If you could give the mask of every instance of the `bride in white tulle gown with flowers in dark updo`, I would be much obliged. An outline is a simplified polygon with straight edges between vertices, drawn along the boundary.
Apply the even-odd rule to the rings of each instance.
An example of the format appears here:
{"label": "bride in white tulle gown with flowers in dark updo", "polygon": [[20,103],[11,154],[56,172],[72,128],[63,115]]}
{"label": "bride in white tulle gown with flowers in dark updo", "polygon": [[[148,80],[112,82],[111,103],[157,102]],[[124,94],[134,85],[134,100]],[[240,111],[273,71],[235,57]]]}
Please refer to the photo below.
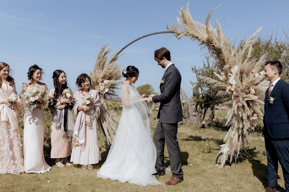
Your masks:
{"label": "bride in white tulle gown with flowers in dark updo", "polygon": [[121,86],[123,112],[108,157],[97,176],[140,186],[160,185],[152,175],[156,173],[156,148],[151,139],[147,98],[131,86],[138,80],[138,73],[134,66],[123,70],[126,77]]}

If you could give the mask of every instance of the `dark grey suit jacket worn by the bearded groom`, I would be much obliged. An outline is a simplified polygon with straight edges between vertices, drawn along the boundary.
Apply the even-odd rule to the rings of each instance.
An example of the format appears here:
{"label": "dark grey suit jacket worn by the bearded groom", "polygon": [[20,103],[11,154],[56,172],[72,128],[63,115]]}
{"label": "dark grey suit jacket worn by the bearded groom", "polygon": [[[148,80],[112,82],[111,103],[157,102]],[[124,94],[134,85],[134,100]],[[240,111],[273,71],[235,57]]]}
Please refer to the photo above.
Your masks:
{"label": "dark grey suit jacket worn by the bearded groom", "polygon": [[181,108],[181,74],[174,64],[166,69],[160,84],[161,94],[152,97],[154,103],[160,102],[158,119],[161,123],[177,123],[183,120]]}

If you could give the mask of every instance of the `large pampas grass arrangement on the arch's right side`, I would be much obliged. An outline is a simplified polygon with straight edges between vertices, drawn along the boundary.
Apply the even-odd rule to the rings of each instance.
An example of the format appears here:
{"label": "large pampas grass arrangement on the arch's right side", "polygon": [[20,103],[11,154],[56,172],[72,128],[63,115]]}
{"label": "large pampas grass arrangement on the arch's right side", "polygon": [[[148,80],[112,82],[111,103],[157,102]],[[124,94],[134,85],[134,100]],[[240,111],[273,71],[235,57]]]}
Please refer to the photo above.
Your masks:
{"label": "large pampas grass arrangement on the arch's right side", "polygon": [[220,163],[216,164],[216,167],[220,168],[225,165],[228,157],[230,162],[233,157],[238,157],[248,142],[249,132],[254,129],[255,121],[262,121],[264,95],[269,82],[263,73],[259,72],[265,59],[264,55],[259,61],[251,58],[254,37],[262,28],[248,38],[242,49],[238,49],[231,45],[231,40],[227,39],[218,21],[215,22],[215,26],[210,22],[213,10],[218,7],[208,13],[203,25],[193,20],[188,3],[186,10],[183,7],[179,9],[180,16],[177,21],[182,29],[177,25],[167,25],[167,29],[172,31],[177,39],[188,37],[192,41],[199,41],[201,48],[205,48],[214,57],[219,69],[218,73],[214,73],[219,80],[206,77],[202,79],[220,88],[218,95],[232,95],[231,100],[226,103],[229,106],[226,125],[230,125],[230,129],[217,157],[217,160],[221,158]]}

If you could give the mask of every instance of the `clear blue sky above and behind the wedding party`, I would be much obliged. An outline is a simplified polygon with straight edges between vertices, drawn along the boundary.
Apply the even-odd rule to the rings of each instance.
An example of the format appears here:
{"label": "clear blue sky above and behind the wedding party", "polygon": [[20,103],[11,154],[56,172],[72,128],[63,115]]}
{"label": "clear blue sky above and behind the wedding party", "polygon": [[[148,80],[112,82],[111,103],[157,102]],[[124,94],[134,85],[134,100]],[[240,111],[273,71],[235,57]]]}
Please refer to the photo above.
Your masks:
{"label": "clear blue sky above and behind the wedding party", "polygon": [[[166,24],[177,22],[178,10],[188,1],[10,1],[0,0],[0,62],[8,63],[18,93],[27,81],[31,65],[45,70],[42,82],[53,87],[52,73],[62,69],[68,85],[75,91],[75,80],[94,66],[99,49],[108,43],[112,52],[149,33],[167,31]],[[190,1],[194,20],[204,23],[208,12],[219,20],[230,39],[239,42],[259,27],[263,37],[271,33],[289,33],[289,1]],[[134,65],[140,70],[135,86],[152,84],[159,93],[163,69],[154,61],[153,51],[166,47],[182,75],[181,87],[192,95],[190,80],[195,81],[192,66],[202,65],[206,54],[197,42],[177,40],[172,33],[143,38],[127,47],[118,63],[124,69]],[[123,79],[124,80],[124,79]]]}

